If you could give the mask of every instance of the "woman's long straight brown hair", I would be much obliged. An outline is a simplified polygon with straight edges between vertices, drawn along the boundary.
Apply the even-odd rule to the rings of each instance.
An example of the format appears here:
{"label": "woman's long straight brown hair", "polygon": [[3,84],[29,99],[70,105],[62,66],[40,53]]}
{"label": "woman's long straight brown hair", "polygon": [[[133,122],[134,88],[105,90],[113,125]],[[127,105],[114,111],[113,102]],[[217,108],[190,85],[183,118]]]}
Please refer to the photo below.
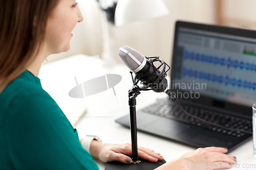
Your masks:
{"label": "woman's long straight brown hair", "polygon": [[0,0],[0,94],[34,60],[59,0]]}

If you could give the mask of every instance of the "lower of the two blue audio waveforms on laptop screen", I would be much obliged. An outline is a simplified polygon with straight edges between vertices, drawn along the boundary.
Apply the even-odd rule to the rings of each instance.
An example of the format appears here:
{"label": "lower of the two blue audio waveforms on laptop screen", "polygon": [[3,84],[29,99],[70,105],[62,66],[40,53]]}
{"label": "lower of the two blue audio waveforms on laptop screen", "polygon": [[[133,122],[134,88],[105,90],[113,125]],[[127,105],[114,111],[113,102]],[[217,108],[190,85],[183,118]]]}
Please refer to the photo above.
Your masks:
{"label": "lower of the two blue audio waveforms on laptop screen", "polygon": [[250,82],[242,79],[231,78],[229,76],[222,76],[216,74],[209,74],[203,71],[197,71],[193,69],[187,69],[183,67],[182,69],[182,77],[190,77],[202,80],[208,80],[212,82],[218,82],[220,84],[232,85],[233,87],[237,86],[240,88],[247,89],[256,89],[256,82]]}

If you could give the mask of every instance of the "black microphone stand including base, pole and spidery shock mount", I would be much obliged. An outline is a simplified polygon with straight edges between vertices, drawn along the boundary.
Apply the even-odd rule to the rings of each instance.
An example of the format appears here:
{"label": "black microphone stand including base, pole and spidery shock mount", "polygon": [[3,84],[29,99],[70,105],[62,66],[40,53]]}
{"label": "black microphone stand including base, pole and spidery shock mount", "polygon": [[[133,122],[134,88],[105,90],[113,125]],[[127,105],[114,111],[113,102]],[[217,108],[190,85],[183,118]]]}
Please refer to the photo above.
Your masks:
{"label": "black microphone stand including base, pole and spidery shock mount", "polygon": [[[161,65],[156,68],[154,66],[155,71],[158,70],[161,66],[162,71],[160,72],[159,76],[152,82],[152,84],[157,83],[162,77],[166,77],[166,72],[165,67],[166,63],[160,59],[159,57],[146,57],[146,59],[151,59],[149,62],[154,66],[155,61],[161,62]],[[167,65],[168,66],[168,65]],[[168,66],[169,67],[169,66]],[[133,72],[130,71],[132,80],[133,80],[133,87],[132,89],[129,90],[129,107],[130,107],[130,124],[131,124],[131,137],[132,137],[132,163],[130,164],[125,164],[121,163],[118,161],[113,161],[113,162],[107,162],[105,164],[105,170],[153,170],[157,168],[158,166],[161,166],[162,164],[166,163],[166,161],[163,159],[161,161],[157,162],[150,162],[144,159],[139,159],[138,156],[138,142],[137,142],[137,119],[136,119],[136,97],[140,94],[140,90],[153,90],[153,89],[148,89],[150,85],[146,85],[143,87],[139,87],[137,84],[140,79],[138,79],[137,76],[133,78]],[[150,77],[152,75],[140,75],[141,77],[147,76]],[[155,76],[155,75],[154,75]]]}

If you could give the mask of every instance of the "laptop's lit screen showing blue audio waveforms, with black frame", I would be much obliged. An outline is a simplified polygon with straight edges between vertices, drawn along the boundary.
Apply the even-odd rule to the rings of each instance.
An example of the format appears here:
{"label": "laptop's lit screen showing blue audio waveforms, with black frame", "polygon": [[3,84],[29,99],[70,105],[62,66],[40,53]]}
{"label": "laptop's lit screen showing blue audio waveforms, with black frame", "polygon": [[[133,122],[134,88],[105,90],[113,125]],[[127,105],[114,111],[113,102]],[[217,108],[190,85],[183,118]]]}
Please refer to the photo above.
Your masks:
{"label": "laptop's lit screen showing blue audio waveforms, with black frame", "polygon": [[169,86],[178,99],[229,111],[256,103],[256,38],[180,26],[174,48]]}

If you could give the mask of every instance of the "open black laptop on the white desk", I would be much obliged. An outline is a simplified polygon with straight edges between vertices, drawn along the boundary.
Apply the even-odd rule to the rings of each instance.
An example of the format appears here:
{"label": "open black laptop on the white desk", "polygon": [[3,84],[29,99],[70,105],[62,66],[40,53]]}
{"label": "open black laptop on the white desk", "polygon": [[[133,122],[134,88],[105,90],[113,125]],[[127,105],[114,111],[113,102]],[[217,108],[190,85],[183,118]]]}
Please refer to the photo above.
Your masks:
{"label": "open black laptop on the white desk", "polygon": [[[256,31],[177,21],[170,90],[188,113],[252,131],[256,103]],[[116,120],[130,127],[130,116]],[[168,98],[137,110],[139,131],[199,147],[232,151],[252,138],[185,115]]]}

